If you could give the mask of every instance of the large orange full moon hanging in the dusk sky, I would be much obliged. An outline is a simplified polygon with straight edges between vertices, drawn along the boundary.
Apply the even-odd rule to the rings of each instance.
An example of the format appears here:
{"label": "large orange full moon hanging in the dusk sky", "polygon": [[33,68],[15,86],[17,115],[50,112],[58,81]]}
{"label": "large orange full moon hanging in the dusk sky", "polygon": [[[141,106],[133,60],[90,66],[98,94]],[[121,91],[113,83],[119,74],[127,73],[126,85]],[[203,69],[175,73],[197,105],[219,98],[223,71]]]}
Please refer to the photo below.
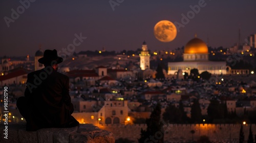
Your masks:
{"label": "large orange full moon hanging in the dusk sky", "polygon": [[161,42],[170,42],[175,39],[177,29],[173,22],[161,20],[154,27],[154,35]]}

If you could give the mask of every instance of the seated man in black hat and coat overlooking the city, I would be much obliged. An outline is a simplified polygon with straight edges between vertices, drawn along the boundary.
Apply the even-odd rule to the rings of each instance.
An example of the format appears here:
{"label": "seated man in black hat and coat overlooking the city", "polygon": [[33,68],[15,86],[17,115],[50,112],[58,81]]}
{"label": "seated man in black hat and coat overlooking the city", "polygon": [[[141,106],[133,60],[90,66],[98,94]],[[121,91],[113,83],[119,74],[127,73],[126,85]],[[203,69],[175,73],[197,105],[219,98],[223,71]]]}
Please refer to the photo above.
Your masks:
{"label": "seated man in black hat and coat overlooking the city", "polygon": [[79,125],[71,115],[74,107],[69,95],[69,78],[57,72],[62,61],[55,49],[46,50],[44,57],[38,59],[45,68],[28,74],[25,97],[17,100],[17,108],[27,122],[27,131]]}

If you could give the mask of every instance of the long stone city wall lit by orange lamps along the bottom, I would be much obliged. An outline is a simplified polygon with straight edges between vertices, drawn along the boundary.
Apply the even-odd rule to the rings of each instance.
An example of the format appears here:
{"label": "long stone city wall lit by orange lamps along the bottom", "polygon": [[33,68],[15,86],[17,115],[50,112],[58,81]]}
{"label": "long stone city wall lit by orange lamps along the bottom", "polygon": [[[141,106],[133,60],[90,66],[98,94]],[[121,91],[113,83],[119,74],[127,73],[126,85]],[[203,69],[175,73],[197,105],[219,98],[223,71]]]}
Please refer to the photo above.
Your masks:
{"label": "long stone city wall lit by orange lamps along the bottom", "polygon": [[[243,125],[245,140],[248,139],[250,125]],[[136,142],[140,138],[140,130],[146,129],[145,124],[134,125],[100,125],[99,128],[110,131],[115,138],[128,138]],[[200,136],[206,135],[212,142],[238,142],[241,125],[239,124],[168,124],[164,126],[165,142],[185,142],[197,140]],[[251,125],[253,137],[256,134],[256,125]],[[194,135],[191,134],[194,130]],[[148,140],[150,142],[150,140]]]}

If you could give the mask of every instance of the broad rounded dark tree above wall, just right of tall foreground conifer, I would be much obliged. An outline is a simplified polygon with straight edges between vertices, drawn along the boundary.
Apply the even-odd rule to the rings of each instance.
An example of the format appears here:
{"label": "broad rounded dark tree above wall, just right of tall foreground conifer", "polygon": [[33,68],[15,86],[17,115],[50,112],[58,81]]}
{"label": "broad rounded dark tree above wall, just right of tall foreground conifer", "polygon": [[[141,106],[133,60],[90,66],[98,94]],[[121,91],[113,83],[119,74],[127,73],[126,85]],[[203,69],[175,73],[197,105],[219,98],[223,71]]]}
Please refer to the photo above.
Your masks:
{"label": "broad rounded dark tree above wall, just right of tall foreground conifer", "polygon": [[163,113],[163,120],[168,123],[181,123],[182,113],[174,105],[169,105]]}

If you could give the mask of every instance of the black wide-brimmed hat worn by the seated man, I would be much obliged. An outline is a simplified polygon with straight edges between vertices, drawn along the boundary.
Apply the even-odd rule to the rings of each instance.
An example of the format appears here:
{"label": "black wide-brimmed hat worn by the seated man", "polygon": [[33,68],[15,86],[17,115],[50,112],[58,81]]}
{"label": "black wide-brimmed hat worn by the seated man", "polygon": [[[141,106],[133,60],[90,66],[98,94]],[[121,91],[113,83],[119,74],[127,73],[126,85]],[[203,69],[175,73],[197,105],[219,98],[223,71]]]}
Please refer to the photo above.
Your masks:
{"label": "black wide-brimmed hat worn by the seated man", "polygon": [[57,51],[54,50],[46,50],[44,53],[44,57],[38,59],[38,62],[41,64],[58,64],[63,61],[63,58],[59,57]]}

